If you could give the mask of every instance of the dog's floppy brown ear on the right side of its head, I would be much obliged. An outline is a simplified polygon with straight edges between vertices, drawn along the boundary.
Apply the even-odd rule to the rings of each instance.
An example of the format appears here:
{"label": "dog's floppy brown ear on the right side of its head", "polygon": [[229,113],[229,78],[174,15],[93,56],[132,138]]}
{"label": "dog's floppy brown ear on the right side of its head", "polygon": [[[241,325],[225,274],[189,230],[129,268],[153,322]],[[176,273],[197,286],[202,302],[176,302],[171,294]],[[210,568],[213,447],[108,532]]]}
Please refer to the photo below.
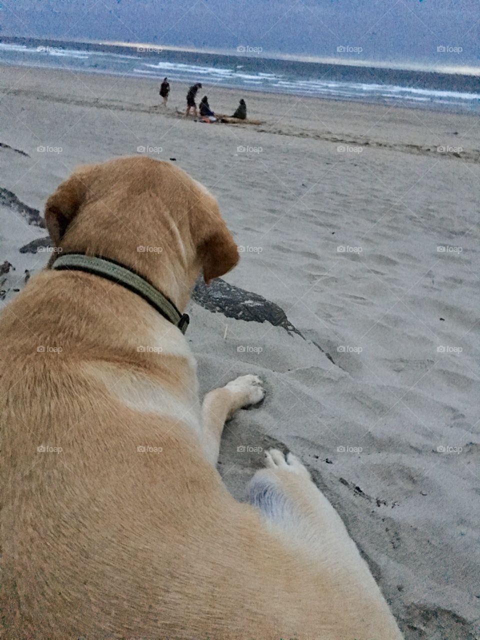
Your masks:
{"label": "dog's floppy brown ear on the right side of its head", "polygon": [[239,260],[238,248],[225,222],[219,218],[212,232],[200,245],[205,284],[233,269]]}

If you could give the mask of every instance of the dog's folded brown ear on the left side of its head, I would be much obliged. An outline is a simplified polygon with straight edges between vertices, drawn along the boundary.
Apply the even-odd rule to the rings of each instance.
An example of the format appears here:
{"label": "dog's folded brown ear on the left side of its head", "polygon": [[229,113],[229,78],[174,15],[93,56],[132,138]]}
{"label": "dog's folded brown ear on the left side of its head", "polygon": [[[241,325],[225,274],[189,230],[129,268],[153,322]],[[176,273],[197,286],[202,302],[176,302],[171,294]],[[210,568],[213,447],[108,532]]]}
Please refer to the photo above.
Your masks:
{"label": "dog's folded brown ear on the left side of its head", "polygon": [[68,225],[77,215],[86,195],[86,184],[74,173],[62,182],[45,205],[45,223],[55,246],[60,244]]}

